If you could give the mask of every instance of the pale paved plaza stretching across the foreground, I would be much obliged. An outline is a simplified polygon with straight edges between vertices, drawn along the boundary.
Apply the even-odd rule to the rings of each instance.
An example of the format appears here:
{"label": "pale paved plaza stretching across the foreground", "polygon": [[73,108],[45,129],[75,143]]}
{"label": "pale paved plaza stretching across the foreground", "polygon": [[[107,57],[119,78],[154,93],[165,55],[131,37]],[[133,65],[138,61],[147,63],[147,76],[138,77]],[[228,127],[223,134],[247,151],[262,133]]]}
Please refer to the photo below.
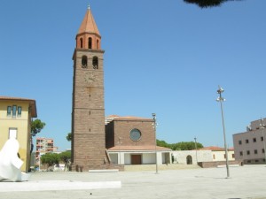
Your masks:
{"label": "pale paved plaza stretching across the foreground", "polygon": [[[0,182],[2,199],[262,199],[265,165],[137,172],[34,172],[27,182]],[[16,191],[17,190],[17,191]],[[18,191],[19,190],[19,191]]]}

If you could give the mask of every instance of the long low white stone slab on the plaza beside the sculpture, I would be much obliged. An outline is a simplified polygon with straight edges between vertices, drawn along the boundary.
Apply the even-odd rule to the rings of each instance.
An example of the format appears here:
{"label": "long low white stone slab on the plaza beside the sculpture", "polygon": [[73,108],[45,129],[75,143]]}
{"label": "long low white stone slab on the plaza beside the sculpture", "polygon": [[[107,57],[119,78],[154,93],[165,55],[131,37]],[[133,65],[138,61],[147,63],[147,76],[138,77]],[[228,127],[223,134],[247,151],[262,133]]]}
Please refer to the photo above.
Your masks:
{"label": "long low white stone slab on the plaza beside the sculpture", "polygon": [[39,180],[25,182],[0,182],[0,192],[87,190],[99,188],[121,188],[121,181],[84,182],[72,180]]}

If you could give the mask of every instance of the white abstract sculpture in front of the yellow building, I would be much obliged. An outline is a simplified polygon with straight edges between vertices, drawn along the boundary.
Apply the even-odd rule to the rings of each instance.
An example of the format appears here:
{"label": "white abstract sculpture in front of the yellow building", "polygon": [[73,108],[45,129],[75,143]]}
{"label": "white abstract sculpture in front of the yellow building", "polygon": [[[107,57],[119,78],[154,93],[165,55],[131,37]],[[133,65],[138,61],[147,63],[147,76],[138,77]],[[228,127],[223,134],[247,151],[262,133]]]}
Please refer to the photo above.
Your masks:
{"label": "white abstract sculpture in front of the yellow building", "polygon": [[19,149],[20,143],[14,137],[4,143],[4,147],[0,151],[0,181],[28,180],[29,175],[20,171],[23,161],[18,157]]}

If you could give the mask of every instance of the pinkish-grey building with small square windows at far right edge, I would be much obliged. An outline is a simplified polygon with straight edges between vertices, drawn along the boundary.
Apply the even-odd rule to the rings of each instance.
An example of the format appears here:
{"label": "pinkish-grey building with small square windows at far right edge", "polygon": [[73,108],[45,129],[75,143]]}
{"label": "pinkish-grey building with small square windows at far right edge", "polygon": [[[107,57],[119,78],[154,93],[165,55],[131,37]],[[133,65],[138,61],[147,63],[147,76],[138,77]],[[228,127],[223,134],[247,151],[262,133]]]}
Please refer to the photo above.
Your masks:
{"label": "pinkish-grey building with small square windows at far right edge", "polygon": [[246,132],[233,134],[235,157],[244,164],[265,164],[265,119],[252,121]]}

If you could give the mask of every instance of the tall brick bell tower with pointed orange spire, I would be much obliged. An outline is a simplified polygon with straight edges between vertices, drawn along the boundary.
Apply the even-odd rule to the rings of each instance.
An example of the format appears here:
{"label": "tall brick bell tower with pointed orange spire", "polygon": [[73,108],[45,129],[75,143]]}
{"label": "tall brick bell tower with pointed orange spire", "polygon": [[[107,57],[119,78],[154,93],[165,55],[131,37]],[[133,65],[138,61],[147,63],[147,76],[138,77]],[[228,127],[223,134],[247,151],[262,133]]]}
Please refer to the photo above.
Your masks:
{"label": "tall brick bell tower with pointed orange spire", "polygon": [[101,36],[90,11],[76,34],[72,101],[72,171],[106,168]]}

